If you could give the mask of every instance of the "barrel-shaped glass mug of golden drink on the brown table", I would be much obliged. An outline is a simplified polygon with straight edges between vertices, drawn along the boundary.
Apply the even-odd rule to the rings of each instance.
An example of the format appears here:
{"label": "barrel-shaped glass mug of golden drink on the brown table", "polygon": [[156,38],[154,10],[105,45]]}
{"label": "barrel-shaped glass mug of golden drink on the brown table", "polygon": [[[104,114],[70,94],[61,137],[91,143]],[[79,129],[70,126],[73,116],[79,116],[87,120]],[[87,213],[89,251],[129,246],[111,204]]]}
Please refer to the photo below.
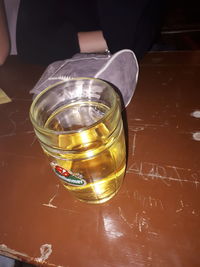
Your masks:
{"label": "barrel-shaped glass mug of golden drink on the brown table", "polygon": [[58,82],[36,96],[30,119],[54,173],[77,199],[103,203],[118,192],[126,148],[120,98],[110,84]]}

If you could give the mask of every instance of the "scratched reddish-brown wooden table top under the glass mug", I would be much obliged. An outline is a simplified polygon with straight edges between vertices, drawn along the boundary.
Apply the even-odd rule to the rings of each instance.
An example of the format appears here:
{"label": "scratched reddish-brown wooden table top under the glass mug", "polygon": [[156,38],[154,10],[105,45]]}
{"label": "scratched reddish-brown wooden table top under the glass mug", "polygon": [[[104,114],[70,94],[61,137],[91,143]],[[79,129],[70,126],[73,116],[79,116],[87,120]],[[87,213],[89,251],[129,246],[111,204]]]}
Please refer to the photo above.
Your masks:
{"label": "scratched reddish-brown wooden table top under the glass mug", "polygon": [[44,68],[0,67],[0,254],[44,266],[200,266],[200,52],[147,54],[127,108],[128,163],[110,201],[60,184],[29,121]]}

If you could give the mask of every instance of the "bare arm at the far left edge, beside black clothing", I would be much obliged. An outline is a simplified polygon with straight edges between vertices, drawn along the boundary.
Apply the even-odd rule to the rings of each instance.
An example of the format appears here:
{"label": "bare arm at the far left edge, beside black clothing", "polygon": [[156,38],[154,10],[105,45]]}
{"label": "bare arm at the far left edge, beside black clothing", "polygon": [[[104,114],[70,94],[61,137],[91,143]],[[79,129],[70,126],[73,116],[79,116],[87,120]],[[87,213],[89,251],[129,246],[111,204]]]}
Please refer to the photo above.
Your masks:
{"label": "bare arm at the far left edge, beside black clothing", "polygon": [[10,51],[10,40],[3,0],[0,0],[0,66],[4,64]]}

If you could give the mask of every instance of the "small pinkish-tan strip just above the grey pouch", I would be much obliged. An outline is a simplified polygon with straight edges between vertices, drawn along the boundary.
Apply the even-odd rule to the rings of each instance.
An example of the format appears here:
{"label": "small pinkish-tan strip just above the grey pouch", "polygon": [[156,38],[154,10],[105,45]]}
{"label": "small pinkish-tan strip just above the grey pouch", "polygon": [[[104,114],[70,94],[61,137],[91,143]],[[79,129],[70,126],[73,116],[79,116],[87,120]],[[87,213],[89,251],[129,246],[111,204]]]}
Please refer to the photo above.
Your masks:
{"label": "small pinkish-tan strip just above the grey pouch", "polygon": [[78,40],[81,53],[100,53],[108,49],[102,31],[79,32]]}

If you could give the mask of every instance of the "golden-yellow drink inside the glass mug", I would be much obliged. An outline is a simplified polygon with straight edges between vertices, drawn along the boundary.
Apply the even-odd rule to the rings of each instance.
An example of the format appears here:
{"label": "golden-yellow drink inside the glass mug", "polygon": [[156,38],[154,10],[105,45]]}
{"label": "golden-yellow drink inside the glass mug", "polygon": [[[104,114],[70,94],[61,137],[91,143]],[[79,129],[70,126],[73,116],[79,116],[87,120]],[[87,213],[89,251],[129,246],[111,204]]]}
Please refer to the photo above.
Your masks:
{"label": "golden-yellow drink inside the glass mug", "polygon": [[[60,180],[76,198],[89,203],[103,203],[112,198],[124,177],[123,123],[121,116],[117,117],[119,110],[112,121],[103,117],[108,110],[98,102],[76,102],[56,110],[45,123],[45,128],[59,131],[57,142],[61,148],[49,151],[42,145],[45,153],[54,165],[83,177],[82,186]],[[89,126],[91,123],[93,127]]]}

